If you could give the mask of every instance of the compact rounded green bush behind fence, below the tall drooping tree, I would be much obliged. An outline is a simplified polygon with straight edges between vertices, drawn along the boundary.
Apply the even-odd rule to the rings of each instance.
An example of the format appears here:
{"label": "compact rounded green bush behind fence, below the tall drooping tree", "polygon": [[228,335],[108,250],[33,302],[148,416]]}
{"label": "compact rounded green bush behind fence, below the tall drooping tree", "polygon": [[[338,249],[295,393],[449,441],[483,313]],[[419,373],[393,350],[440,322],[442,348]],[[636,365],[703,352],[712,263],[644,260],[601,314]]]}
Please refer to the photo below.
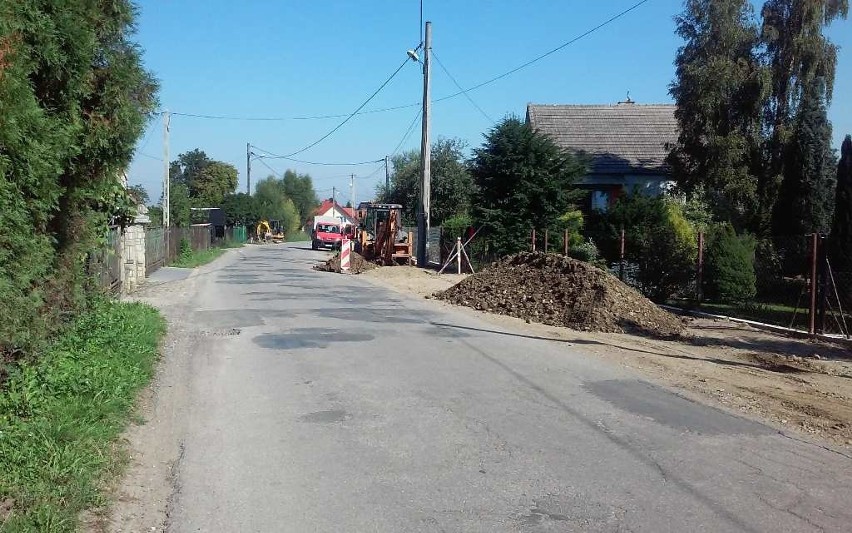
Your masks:
{"label": "compact rounded green bush behind fence, below the tall drooping tree", "polygon": [[754,273],[756,241],[737,235],[731,224],[719,224],[707,235],[704,294],[725,303],[743,303],[757,294]]}

